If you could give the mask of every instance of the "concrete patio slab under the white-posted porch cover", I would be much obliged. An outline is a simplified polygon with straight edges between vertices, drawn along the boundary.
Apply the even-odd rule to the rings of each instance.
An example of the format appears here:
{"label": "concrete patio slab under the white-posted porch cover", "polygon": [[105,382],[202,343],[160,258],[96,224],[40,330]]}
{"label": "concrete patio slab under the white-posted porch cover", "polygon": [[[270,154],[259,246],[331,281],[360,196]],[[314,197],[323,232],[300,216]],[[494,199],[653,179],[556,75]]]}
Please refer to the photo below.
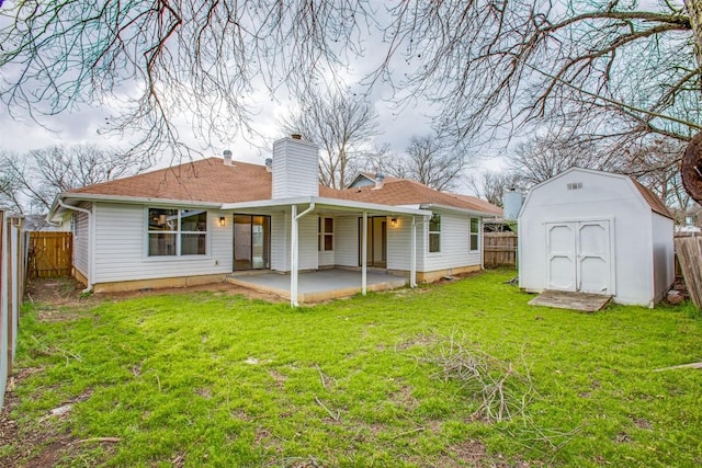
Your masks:
{"label": "concrete patio slab under the white-posted porch cover", "polygon": [[[319,270],[297,273],[297,303],[318,303],[321,300],[348,297],[363,292],[360,270]],[[265,272],[259,274],[240,273],[227,278],[227,282],[262,293],[291,298],[291,275]],[[366,272],[366,290],[387,290],[404,287],[409,279],[385,271]]]}

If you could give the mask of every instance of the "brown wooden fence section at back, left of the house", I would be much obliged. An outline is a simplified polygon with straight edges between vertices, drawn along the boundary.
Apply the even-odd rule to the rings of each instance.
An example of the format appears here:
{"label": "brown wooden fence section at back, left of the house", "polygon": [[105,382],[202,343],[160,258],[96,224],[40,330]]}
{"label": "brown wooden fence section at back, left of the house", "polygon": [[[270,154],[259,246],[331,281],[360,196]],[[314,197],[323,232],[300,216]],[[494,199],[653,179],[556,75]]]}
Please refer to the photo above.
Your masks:
{"label": "brown wooden fence section at back, left of the house", "polygon": [[29,232],[30,278],[70,276],[73,236],[71,232]]}

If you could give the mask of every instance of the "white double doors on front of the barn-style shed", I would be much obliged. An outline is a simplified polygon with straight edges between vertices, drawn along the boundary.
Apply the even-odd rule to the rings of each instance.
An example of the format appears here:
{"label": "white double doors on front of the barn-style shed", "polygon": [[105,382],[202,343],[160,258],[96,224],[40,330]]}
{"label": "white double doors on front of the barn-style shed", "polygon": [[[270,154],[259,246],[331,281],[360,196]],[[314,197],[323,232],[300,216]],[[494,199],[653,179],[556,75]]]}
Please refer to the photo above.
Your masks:
{"label": "white double doors on front of the barn-style shed", "polygon": [[614,294],[610,221],[546,224],[547,289]]}

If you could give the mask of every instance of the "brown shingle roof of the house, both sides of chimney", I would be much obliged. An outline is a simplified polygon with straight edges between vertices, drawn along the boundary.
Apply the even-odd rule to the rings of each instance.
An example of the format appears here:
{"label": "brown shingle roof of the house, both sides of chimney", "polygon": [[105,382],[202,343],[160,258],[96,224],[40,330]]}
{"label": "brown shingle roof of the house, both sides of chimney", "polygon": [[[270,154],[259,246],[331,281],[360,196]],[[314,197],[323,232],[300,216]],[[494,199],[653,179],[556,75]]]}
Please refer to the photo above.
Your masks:
{"label": "brown shingle roof of the house, both sides of chimney", "polygon": [[[234,161],[225,165],[220,158],[207,158],[168,169],[88,185],[69,193],[191,202],[239,203],[271,198],[272,176],[264,165]],[[382,205],[435,204],[473,212],[501,214],[501,209],[468,195],[454,195],[429,189],[406,179],[386,179],[380,190],[374,185],[335,190],[319,186],[319,196]]]}

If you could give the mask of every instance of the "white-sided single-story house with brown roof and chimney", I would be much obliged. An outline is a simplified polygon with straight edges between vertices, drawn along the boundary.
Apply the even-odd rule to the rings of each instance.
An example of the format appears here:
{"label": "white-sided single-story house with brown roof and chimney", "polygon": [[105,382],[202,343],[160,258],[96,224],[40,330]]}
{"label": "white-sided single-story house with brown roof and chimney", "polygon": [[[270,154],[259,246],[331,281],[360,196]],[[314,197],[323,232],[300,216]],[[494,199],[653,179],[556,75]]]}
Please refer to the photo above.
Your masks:
{"label": "white-sided single-story house with brown roof and chimney", "polygon": [[369,269],[411,286],[482,269],[484,205],[392,179],[319,186],[318,149],[273,144],[265,165],[208,158],[60,193],[53,221],[73,226],[75,275],[94,292],[222,282],[233,273]]}

